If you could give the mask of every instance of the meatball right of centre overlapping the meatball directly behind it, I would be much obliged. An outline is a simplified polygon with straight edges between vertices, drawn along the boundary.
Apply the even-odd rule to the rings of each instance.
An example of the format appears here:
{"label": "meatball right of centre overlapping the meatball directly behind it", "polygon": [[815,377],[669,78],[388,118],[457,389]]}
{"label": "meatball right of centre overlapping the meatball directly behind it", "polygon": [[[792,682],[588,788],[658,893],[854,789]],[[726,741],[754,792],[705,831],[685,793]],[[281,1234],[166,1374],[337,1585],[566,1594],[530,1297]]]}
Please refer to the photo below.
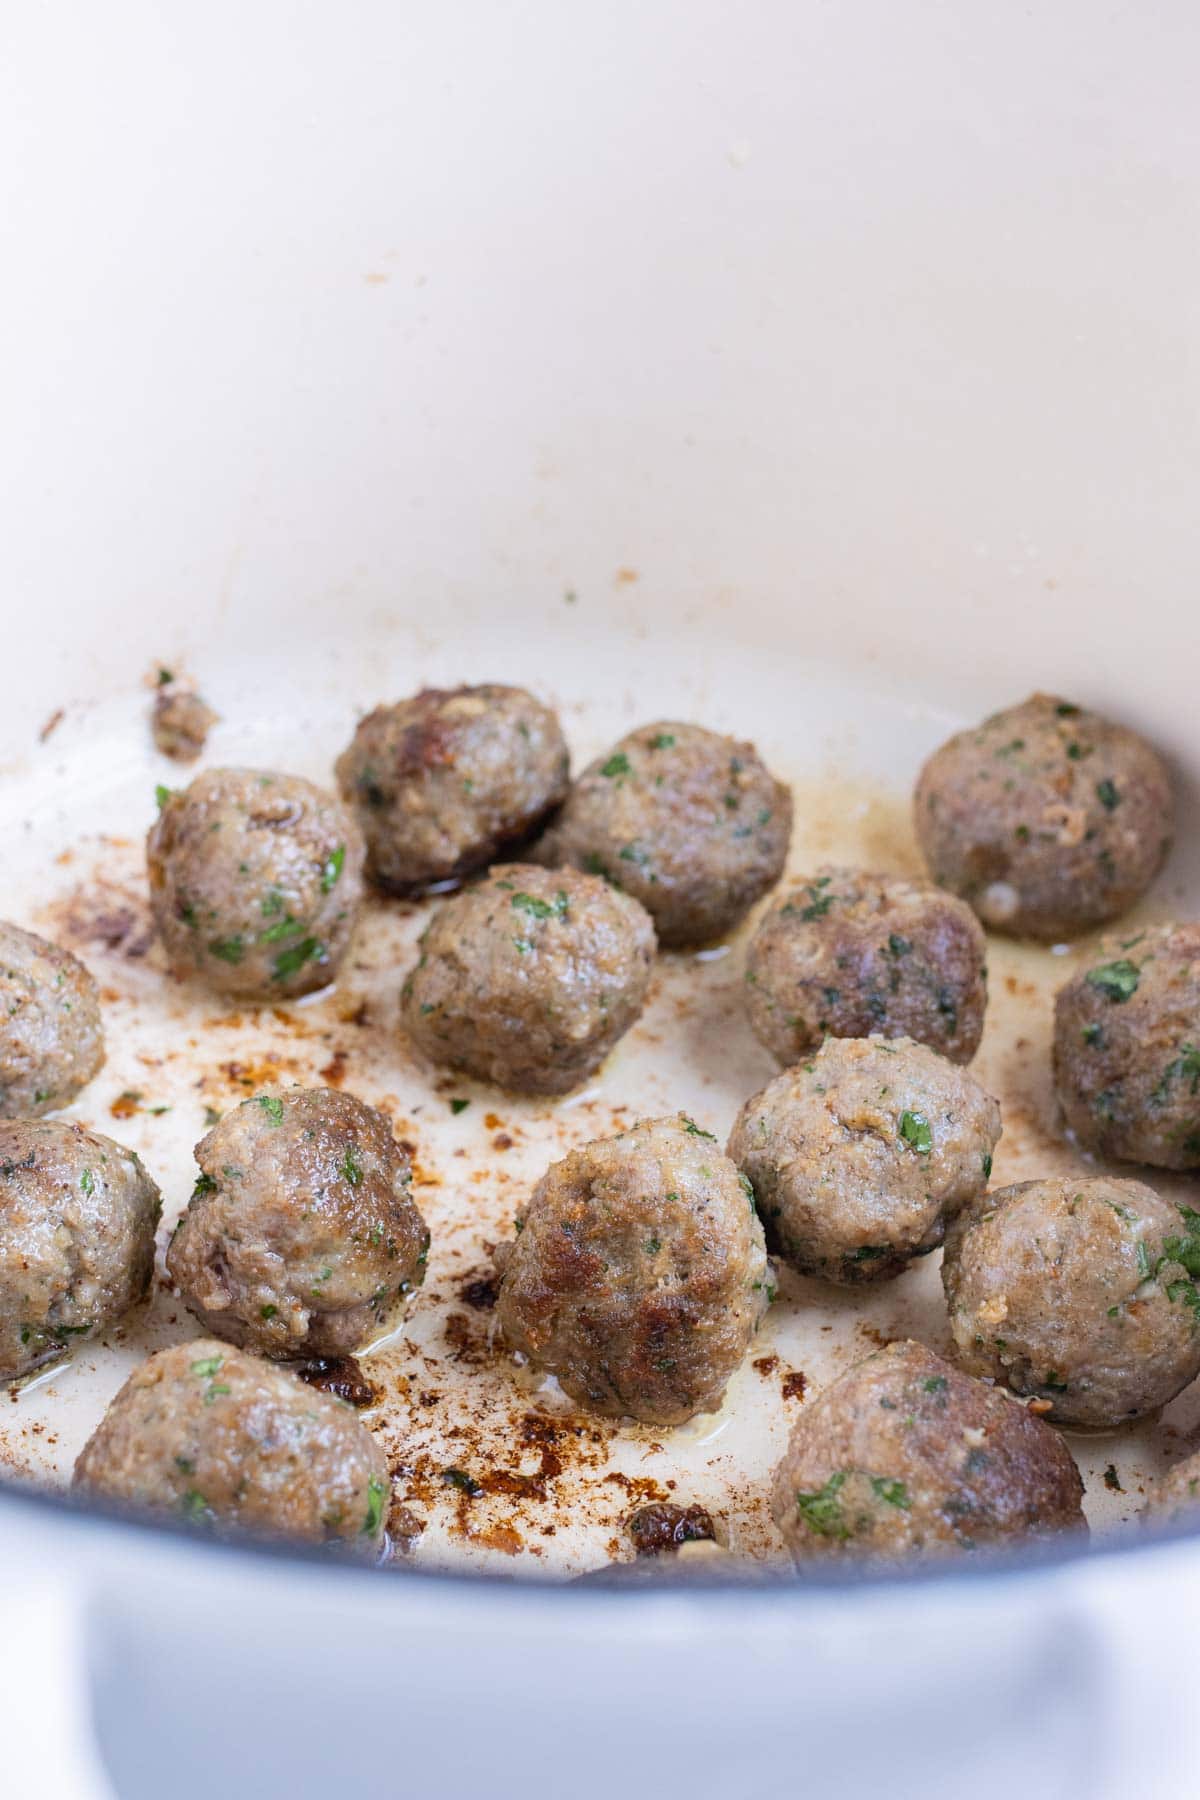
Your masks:
{"label": "meatball right of centre overlapping the meatball directly behind it", "polygon": [[729,1156],[802,1274],[880,1282],[937,1249],[988,1186],[1000,1107],[910,1039],[826,1039],[747,1100]]}

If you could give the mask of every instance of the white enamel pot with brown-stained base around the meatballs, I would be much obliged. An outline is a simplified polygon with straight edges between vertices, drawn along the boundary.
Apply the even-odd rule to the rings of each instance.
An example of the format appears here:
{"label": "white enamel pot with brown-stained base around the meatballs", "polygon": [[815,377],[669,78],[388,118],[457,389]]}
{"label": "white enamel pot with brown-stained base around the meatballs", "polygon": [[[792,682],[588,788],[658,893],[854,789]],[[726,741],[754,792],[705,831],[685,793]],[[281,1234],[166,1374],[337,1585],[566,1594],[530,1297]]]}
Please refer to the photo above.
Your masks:
{"label": "white enamel pot with brown-stained base around the meatballs", "polygon": [[[363,925],[367,1033],[338,995],[230,1015],[139,954],[139,844],[173,779],[146,729],[160,664],[221,713],[210,763],[322,779],[356,709],[425,680],[533,686],[578,761],[655,716],[738,731],[795,787],[797,868],[912,868],[921,758],[1049,688],[1173,758],[1178,846],[1144,913],[1195,913],[1191,11],[9,11],[0,911],[101,979],[110,1060],[72,1112],[139,1148],[169,1217],[232,1069],[318,1080],[342,1051],[417,1145],[435,1246],[374,1359],[369,1424],[421,1526],[403,1575],[5,1490],[9,1773],[29,1753],[40,1786],[122,1796],[1166,1791],[1196,1766],[1200,1552],[1133,1521],[1196,1395],[1072,1438],[1083,1559],[547,1586],[626,1553],[639,1481],[777,1557],[766,1478],[802,1406],[781,1372],[811,1391],[871,1332],[945,1345],[934,1267],[867,1301],[784,1283],[754,1350],[775,1368],[748,1363],[714,1418],[606,1431],[516,1507],[430,1498],[457,1427],[518,1469],[520,1420],[565,1417],[500,1352],[450,1354],[486,1337],[461,1291],[545,1163],[678,1105],[723,1134],[770,1073],[741,940],[664,959],[574,1105],[516,1103],[439,1084],[394,1031],[421,911]],[[1070,956],[990,961],[997,1179],[1076,1166],[1045,1078]],[[113,1121],[122,1091],[142,1107]],[[13,1476],[61,1485],[128,1366],[189,1330],[160,1289],[4,1399]]]}

